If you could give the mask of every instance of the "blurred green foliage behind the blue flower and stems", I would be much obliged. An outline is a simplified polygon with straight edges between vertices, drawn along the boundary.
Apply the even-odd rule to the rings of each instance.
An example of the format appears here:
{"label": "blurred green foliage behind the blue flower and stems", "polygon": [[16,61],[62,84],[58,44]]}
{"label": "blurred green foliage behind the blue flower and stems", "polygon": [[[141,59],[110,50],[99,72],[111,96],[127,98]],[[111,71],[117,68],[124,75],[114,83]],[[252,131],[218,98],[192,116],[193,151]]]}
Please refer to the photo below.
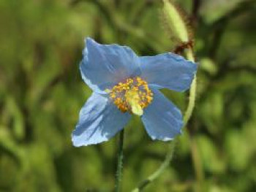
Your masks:
{"label": "blurred green foliage behind the blue flower and stems", "polygon": [[[197,102],[170,167],[145,191],[256,191],[256,5],[178,1],[195,26]],[[91,91],[78,71],[83,39],[138,55],[173,50],[159,0],[0,1],[0,191],[113,191],[116,137],[72,147]],[[188,94],[163,91],[184,112]],[[167,153],[140,119],[125,129],[123,191]]]}

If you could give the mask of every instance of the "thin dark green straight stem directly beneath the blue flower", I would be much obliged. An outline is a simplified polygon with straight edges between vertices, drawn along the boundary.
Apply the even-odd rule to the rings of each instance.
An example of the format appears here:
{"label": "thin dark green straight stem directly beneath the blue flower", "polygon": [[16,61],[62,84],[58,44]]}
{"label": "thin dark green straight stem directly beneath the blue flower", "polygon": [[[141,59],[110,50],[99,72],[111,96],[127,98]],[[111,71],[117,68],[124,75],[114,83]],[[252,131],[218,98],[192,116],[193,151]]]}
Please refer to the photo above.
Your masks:
{"label": "thin dark green straight stem directly beneath the blue flower", "polygon": [[123,158],[124,158],[124,129],[119,134],[115,192],[119,192],[121,189],[121,177],[123,175]]}

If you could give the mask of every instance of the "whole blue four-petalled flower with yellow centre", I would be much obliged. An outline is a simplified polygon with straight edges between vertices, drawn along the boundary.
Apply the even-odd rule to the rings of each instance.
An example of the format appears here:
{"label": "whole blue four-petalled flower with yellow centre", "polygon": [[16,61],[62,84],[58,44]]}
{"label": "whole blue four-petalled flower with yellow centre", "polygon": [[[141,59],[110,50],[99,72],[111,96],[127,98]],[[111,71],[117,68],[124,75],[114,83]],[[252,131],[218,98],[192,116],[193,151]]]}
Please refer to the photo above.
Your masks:
{"label": "whole blue four-petalled flower with yellow centre", "polygon": [[197,65],[173,53],[138,57],[129,47],[86,39],[80,72],[94,91],[72,132],[76,147],[108,141],[139,115],[151,139],[181,133],[181,111],[159,91],[189,88]]}

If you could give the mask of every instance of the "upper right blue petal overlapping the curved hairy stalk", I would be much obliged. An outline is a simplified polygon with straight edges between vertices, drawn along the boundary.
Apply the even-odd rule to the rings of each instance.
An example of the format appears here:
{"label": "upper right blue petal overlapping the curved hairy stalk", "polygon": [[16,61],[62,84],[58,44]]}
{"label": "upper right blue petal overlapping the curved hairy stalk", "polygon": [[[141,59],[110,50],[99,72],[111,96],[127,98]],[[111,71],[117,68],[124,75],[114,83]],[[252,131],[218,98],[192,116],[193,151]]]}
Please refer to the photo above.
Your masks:
{"label": "upper right blue petal overlapping the curved hairy stalk", "polygon": [[140,68],[141,77],[155,88],[186,91],[195,76],[197,65],[179,55],[164,53],[140,57]]}

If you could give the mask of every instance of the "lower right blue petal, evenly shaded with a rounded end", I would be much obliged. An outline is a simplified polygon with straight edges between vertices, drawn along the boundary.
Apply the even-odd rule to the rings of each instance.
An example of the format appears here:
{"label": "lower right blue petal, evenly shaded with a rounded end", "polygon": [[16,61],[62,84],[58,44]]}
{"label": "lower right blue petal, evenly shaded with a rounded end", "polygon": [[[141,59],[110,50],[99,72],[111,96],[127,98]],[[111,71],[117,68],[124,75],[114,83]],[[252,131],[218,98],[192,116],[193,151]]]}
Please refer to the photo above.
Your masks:
{"label": "lower right blue petal, evenly shaded with a rounded end", "polygon": [[142,116],[143,124],[152,139],[171,140],[181,134],[181,111],[160,91],[153,89],[153,92],[154,99]]}

